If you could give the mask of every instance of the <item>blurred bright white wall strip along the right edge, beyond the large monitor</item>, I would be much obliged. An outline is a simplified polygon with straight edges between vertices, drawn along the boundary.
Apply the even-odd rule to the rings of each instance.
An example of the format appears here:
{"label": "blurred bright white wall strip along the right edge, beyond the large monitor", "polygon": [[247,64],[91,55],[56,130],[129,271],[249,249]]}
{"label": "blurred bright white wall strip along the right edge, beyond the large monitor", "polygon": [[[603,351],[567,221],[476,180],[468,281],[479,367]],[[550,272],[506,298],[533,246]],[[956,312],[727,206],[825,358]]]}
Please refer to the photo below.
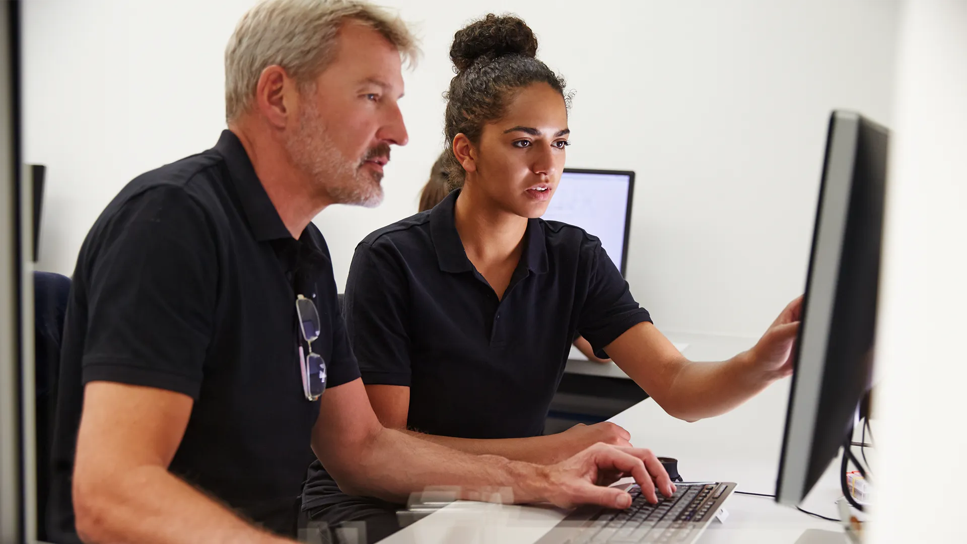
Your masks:
{"label": "blurred bright white wall strip along the right edge, beyond the large monitor", "polygon": [[963,542],[967,2],[909,0],[903,15],[869,542]]}

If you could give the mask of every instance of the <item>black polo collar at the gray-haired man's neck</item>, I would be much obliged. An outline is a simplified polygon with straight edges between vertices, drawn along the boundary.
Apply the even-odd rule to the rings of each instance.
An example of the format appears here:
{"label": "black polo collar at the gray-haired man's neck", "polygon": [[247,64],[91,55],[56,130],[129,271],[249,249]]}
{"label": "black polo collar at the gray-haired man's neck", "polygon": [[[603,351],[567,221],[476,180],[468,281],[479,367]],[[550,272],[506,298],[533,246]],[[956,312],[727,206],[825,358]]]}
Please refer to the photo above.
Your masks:
{"label": "black polo collar at the gray-haired man's neck", "polygon": [[249,221],[249,228],[259,242],[291,238],[282,218],[278,217],[276,206],[262,187],[262,182],[255,175],[255,168],[251,166],[249,154],[238,136],[231,131],[221,131],[219,142],[215,144],[217,151],[225,160],[228,167],[228,177],[235,185],[235,193],[242,204],[242,211]]}

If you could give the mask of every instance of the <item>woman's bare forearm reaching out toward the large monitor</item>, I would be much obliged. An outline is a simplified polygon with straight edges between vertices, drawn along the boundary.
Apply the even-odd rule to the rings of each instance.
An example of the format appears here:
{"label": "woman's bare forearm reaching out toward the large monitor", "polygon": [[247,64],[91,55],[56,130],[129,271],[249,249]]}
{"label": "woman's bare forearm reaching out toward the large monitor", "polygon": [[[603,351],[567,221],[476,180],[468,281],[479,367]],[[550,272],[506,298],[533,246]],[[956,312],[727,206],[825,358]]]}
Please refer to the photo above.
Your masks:
{"label": "woman's bare forearm reaching out toward the large monitor", "polygon": [[737,408],[775,381],[756,371],[748,352],[727,361],[687,362],[672,381],[666,399],[656,399],[669,414],[687,421]]}

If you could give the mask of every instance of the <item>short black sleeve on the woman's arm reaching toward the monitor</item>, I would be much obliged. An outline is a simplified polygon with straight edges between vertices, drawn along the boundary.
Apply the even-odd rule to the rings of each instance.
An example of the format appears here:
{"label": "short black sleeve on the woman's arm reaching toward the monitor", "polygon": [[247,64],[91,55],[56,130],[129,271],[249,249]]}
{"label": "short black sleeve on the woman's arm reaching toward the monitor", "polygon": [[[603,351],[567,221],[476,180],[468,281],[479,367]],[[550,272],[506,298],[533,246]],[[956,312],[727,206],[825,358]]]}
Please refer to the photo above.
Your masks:
{"label": "short black sleeve on the woman's arm reaching toward the monitor", "polygon": [[602,350],[605,346],[634,325],[651,322],[652,318],[647,310],[635,302],[628,282],[597,238],[593,239],[591,254],[588,296],[581,308],[577,330],[591,343],[595,355],[606,357]]}

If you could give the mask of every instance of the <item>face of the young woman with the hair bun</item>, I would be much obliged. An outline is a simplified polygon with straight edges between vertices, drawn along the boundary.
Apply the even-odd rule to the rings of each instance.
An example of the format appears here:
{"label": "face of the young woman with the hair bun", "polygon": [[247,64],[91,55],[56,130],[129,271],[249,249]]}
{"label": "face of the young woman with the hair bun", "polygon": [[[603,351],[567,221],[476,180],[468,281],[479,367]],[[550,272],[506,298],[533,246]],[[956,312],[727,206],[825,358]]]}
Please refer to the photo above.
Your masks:
{"label": "face of the young woman with the hair bun", "polygon": [[476,189],[515,215],[541,217],[561,180],[570,133],[560,92],[547,83],[520,89],[504,117],[484,125]]}

